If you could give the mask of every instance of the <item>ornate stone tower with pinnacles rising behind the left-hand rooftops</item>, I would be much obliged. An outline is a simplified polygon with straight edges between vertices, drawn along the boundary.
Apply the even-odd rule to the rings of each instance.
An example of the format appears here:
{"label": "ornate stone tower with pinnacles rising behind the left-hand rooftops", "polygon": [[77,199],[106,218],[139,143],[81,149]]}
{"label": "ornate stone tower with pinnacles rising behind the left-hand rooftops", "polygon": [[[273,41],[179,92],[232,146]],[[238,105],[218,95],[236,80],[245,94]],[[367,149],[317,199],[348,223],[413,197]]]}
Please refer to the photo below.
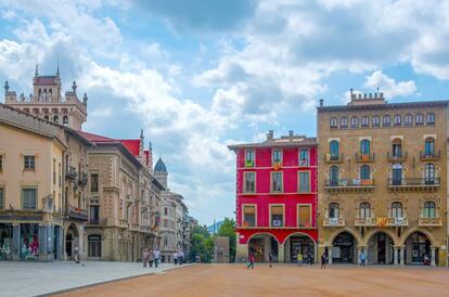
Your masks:
{"label": "ornate stone tower with pinnacles rising behind the left-hand rooftops", "polygon": [[33,114],[47,120],[51,120],[76,130],[81,130],[87,120],[87,101],[85,93],[82,101],[76,92],[76,81],[72,85],[72,91],[62,94],[60,68],[56,75],[39,75],[38,65],[33,79],[33,94],[18,98],[15,91],[10,91],[8,81],[4,83],[4,104],[23,112]]}

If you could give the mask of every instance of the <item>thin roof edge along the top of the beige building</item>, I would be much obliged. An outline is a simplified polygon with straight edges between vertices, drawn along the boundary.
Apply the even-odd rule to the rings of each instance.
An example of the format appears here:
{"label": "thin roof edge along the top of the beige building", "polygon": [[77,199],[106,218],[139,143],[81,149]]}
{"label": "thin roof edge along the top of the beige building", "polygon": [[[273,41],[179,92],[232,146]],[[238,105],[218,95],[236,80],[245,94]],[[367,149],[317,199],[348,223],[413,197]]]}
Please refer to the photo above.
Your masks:
{"label": "thin roof edge along the top of the beige building", "polygon": [[413,107],[434,107],[449,105],[449,101],[416,101],[416,102],[401,102],[401,103],[385,103],[385,104],[357,104],[357,105],[334,105],[334,106],[318,106],[318,112],[338,112],[338,111],[363,111],[363,109],[394,109],[394,108],[413,108]]}

